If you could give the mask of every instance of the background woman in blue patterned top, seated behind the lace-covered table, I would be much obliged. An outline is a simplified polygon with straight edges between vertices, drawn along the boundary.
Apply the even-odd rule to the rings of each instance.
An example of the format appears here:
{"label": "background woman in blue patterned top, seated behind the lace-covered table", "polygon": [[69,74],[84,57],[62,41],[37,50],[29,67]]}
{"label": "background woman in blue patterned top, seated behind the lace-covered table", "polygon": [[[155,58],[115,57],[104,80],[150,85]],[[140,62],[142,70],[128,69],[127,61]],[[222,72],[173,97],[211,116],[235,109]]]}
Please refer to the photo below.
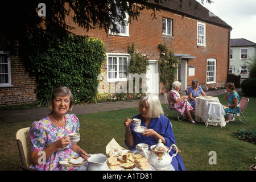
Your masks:
{"label": "background woman in blue patterned top, seated behind the lace-covered table", "polygon": [[194,79],[192,81],[192,86],[188,88],[188,97],[189,97],[189,104],[193,107],[193,109],[196,109],[196,97],[198,97],[200,94],[202,96],[207,96],[201,86],[199,86],[199,81],[197,79]]}

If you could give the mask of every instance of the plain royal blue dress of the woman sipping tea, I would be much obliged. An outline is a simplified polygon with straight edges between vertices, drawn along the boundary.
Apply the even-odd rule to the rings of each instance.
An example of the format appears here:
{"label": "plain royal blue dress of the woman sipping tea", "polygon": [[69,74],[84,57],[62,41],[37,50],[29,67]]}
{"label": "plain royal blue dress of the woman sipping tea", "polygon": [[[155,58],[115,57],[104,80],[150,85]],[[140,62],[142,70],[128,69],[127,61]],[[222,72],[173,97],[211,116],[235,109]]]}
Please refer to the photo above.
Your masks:
{"label": "plain royal blue dress of the woman sipping tea", "polygon": [[[141,119],[141,126],[146,127],[144,118],[141,116],[141,114],[135,115],[135,117],[133,117],[133,118]],[[165,117],[164,115],[161,115],[160,118],[152,118],[152,120],[150,121],[147,128],[153,129],[158,134],[162,135],[162,137],[164,137],[164,139],[166,140],[167,147],[171,147],[172,144],[175,144],[174,132],[172,131],[172,126],[171,126],[170,120],[167,117]],[[158,143],[158,141],[154,137],[152,137],[152,136],[145,137],[139,133],[136,133],[133,129],[134,129],[134,126],[131,125],[131,134],[133,135],[133,139],[134,139],[133,146],[128,146],[125,141],[125,144],[129,148],[129,150],[131,150],[131,151],[135,150],[135,147],[137,146],[138,143],[147,143],[148,150],[150,150],[150,147],[152,145]],[[170,151],[169,154],[170,154],[170,156],[172,156],[175,153],[176,153],[176,151],[174,150],[174,148],[172,148],[172,150]],[[183,161],[179,154],[177,154],[176,156],[174,156],[172,158],[171,164],[174,167],[175,171],[184,171],[185,170]]]}

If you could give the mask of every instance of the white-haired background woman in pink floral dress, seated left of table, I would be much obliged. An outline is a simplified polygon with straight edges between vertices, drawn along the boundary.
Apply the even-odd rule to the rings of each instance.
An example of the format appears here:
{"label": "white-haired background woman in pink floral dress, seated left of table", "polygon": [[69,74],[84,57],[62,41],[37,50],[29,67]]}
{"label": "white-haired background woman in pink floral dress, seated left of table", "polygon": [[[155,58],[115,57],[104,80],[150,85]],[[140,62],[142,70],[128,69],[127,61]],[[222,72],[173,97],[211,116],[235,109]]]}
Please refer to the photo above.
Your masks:
{"label": "white-haired background woman in pink floral dress, seated left of table", "polygon": [[[180,90],[181,83],[179,81],[175,81],[172,84],[172,90],[169,94],[170,104],[175,104],[177,111],[184,117],[187,115],[188,120],[192,123],[196,123],[193,118],[191,117],[191,113],[195,114],[195,110],[187,101],[187,96],[180,97],[179,90]],[[175,108],[174,105],[170,105],[171,108]]]}

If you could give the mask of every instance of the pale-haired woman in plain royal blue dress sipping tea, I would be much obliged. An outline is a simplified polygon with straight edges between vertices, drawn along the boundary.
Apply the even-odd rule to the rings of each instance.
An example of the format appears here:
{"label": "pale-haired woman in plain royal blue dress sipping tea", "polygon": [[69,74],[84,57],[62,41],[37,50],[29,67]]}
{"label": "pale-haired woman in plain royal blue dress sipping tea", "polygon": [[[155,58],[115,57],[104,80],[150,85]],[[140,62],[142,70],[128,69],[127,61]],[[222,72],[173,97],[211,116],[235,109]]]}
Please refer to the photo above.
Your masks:
{"label": "pale-haired woman in plain royal blue dress sipping tea", "polygon": [[[175,137],[172,131],[170,120],[164,116],[163,107],[160,104],[159,97],[154,94],[149,94],[143,97],[139,102],[139,112],[141,114],[135,115],[133,118],[141,119],[141,126],[147,127],[145,133],[136,133],[131,125],[131,119],[127,118],[123,121],[123,125],[126,128],[125,144],[129,150],[135,150],[138,143],[148,144],[148,150],[150,147],[161,139],[163,144],[167,147],[171,147],[175,144]],[[174,148],[170,151],[170,156],[175,154]],[[185,170],[183,161],[179,154],[172,158],[172,166],[176,171]]]}

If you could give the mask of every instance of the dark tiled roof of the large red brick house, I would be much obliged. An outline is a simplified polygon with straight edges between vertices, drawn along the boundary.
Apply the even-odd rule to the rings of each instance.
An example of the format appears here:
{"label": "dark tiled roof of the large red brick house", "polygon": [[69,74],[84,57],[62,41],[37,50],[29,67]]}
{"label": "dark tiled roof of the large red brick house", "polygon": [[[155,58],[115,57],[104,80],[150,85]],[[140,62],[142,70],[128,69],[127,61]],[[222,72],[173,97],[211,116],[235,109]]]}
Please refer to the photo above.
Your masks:
{"label": "dark tiled roof of the large red brick house", "polygon": [[[149,0],[154,3],[155,0]],[[180,2],[182,7],[180,7]],[[199,2],[195,0],[163,0],[163,10],[172,11],[176,14],[187,16],[189,18],[202,20],[204,22],[214,24],[220,27],[232,29],[226,22],[218,18],[218,16],[213,15],[207,8],[202,6]]]}

